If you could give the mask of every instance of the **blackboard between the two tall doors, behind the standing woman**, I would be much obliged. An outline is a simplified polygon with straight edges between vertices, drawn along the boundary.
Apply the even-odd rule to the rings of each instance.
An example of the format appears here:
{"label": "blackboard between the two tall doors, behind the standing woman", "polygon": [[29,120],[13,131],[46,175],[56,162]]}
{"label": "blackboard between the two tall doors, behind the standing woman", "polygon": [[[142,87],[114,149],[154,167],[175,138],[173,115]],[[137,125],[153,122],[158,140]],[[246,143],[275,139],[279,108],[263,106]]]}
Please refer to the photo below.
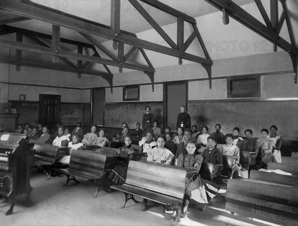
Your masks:
{"label": "blackboard between the two tall doors, behind the standing woman", "polygon": [[146,106],[151,107],[150,113],[154,115],[158,127],[162,128],[162,102],[105,103],[104,126],[122,127],[123,122],[126,122],[130,129],[134,129],[137,122],[142,126]]}

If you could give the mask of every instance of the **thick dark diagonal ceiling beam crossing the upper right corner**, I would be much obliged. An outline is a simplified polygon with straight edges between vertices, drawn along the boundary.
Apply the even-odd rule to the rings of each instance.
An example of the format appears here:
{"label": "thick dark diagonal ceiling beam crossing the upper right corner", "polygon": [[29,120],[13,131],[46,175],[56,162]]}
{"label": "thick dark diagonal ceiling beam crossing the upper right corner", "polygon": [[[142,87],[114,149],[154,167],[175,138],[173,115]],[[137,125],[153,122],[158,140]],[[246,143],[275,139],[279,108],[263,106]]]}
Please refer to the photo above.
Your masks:
{"label": "thick dark diagonal ceiling beam crossing the upper right corner", "polygon": [[212,5],[222,10],[223,8],[228,11],[230,17],[234,18],[236,21],[242,23],[244,26],[253,30],[257,34],[266,38],[271,42],[276,42],[276,44],[285,51],[291,51],[298,54],[298,49],[288,43],[285,39],[276,34],[273,30],[268,28],[262,22],[257,20],[255,17],[250,15],[244,9],[235,4],[232,0],[206,0]]}

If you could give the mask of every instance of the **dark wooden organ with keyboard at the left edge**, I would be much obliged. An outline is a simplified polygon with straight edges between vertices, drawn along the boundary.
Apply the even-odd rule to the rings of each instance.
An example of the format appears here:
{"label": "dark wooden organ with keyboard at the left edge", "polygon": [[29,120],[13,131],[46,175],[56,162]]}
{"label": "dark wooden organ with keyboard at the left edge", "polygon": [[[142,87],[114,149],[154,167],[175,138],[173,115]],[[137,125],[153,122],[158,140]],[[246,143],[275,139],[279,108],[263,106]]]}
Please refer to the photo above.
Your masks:
{"label": "dark wooden organ with keyboard at the left edge", "polygon": [[12,214],[17,195],[25,193],[30,201],[30,166],[34,151],[25,138],[25,134],[0,133],[0,197],[10,202],[6,215]]}

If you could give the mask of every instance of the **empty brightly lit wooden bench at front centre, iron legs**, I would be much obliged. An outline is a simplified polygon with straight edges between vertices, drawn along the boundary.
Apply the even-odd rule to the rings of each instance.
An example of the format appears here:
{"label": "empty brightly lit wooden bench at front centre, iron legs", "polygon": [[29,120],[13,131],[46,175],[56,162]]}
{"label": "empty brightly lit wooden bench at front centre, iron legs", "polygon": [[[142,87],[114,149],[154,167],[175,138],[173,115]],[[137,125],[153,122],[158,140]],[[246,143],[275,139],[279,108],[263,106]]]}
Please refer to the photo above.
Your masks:
{"label": "empty brightly lit wooden bench at front centre, iron legs", "polygon": [[136,203],[134,196],[139,196],[172,207],[176,211],[175,224],[182,213],[182,201],[185,192],[186,168],[148,161],[133,161],[128,165],[126,181],[123,185],[111,188],[124,192],[125,207],[128,200]]}

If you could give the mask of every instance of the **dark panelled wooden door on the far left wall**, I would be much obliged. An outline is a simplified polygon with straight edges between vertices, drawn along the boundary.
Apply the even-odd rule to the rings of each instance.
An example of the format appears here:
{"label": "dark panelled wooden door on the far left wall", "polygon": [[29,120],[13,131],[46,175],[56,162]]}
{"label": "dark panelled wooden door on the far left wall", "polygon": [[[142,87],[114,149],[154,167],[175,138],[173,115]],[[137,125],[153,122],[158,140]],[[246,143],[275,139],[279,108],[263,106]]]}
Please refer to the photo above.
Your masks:
{"label": "dark panelled wooden door on the far left wall", "polygon": [[38,122],[55,128],[60,123],[61,95],[39,94]]}

